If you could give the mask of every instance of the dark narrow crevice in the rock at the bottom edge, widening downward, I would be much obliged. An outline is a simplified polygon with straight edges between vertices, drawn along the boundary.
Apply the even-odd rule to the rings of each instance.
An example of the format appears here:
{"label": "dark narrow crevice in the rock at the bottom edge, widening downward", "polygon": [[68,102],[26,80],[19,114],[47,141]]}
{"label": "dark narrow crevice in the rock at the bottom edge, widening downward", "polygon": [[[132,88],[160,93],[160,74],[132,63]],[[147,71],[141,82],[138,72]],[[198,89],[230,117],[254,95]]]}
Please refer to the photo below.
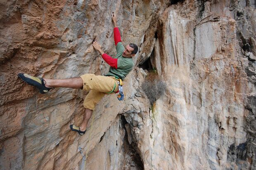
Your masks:
{"label": "dark narrow crevice in the rock at the bottom edge, widening downward", "polygon": [[130,125],[128,124],[126,118],[123,115],[121,116],[121,121],[125,130],[125,135],[123,138],[123,156],[125,159],[123,165],[128,165],[128,167],[134,167],[137,170],[143,170],[144,165],[141,161],[139,153],[137,152],[137,144],[134,141],[129,143],[128,140],[128,135],[131,136],[131,134],[128,134],[126,128]]}

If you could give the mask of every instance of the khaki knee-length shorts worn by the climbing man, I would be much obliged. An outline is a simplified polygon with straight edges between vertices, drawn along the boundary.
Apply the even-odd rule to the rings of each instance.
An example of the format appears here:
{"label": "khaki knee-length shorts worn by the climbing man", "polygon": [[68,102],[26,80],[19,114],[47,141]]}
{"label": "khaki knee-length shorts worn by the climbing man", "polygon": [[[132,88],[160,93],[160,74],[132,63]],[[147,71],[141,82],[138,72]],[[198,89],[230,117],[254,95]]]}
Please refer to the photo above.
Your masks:
{"label": "khaki knee-length shorts worn by the climbing man", "polygon": [[83,106],[86,109],[94,110],[95,105],[107,92],[113,90],[115,84],[116,88],[114,89],[114,92],[118,91],[118,84],[115,77],[95,76],[94,74],[84,74],[80,77],[83,79],[83,90],[89,91],[83,102]]}

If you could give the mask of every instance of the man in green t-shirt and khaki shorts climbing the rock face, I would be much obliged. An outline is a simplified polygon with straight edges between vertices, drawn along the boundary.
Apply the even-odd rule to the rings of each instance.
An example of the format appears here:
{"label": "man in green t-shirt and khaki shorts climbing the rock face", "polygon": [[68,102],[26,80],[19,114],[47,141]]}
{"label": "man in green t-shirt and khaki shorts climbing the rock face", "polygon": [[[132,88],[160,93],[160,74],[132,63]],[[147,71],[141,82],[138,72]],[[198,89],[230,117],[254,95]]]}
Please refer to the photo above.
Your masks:
{"label": "man in green t-shirt and khaki shorts climbing the rock face", "polygon": [[[112,21],[114,23],[114,41],[116,45],[116,57],[112,58],[101,49],[99,43],[94,41],[92,43],[95,50],[100,52],[102,58],[110,65],[109,72],[105,76],[95,76],[94,74],[84,74],[76,78],[67,79],[46,79],[29,76],[24,73],[19,73],[18,76],[26,83],[38,88],[40,93],[45,94],[55,87],[69,87],[73,89],[83,89],[89,91],[83,106],[85,113],[83,115],[83,122],[80,127],[70,125],[71,130],[76,131],[79,135],[84,135],[89,119],[92,116],[92,111],[95,110],[95,105],[104,97],[106,93],[114,93],[119,90],[121,80],[133,68],[133,57],[138,51],[135,44],[126,45],[126,48],[121,43],[121,35],[116,24],[116,15],[112,14]],[[121,80],[120,80],[121,79]]]}

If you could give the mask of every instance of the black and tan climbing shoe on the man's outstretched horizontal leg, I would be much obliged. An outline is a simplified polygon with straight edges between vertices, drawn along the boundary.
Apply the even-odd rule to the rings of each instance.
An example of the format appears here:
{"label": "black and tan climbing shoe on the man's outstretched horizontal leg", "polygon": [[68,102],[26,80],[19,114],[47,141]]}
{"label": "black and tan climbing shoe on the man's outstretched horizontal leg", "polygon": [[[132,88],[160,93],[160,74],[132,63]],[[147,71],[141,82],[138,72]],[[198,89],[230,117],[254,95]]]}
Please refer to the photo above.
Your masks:
{"label": "black and tan climbing shoe on the man's outstretched horizontal leg", "polygon": [[38,88],[38,90],[41,94],[45,94],[45,93],[49,92],[49,90],[52,89],[52,88],[45,87],[43,78],[29,76],[28,74],[24,74],[24,73],[19,73],[18,76],[19,76],[19,78],[24,80],[29,85],[33,85],[36,88]]}

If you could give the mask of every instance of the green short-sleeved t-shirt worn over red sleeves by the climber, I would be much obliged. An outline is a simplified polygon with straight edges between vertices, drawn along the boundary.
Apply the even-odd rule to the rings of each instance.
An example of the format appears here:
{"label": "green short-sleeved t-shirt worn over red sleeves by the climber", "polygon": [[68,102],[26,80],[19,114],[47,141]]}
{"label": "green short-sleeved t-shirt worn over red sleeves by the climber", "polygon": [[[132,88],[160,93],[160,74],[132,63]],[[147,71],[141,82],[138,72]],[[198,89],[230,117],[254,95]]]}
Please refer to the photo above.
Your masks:
{"label": "green short-sleeved t-shirt worn over red sleeves by the climber", "polygon": [[123,57],[124,47],[121,42],[116,45],[117,69],[110,67],[106,76],[115,76],[124,80],[127,74],[133,69],[133,59]]}

